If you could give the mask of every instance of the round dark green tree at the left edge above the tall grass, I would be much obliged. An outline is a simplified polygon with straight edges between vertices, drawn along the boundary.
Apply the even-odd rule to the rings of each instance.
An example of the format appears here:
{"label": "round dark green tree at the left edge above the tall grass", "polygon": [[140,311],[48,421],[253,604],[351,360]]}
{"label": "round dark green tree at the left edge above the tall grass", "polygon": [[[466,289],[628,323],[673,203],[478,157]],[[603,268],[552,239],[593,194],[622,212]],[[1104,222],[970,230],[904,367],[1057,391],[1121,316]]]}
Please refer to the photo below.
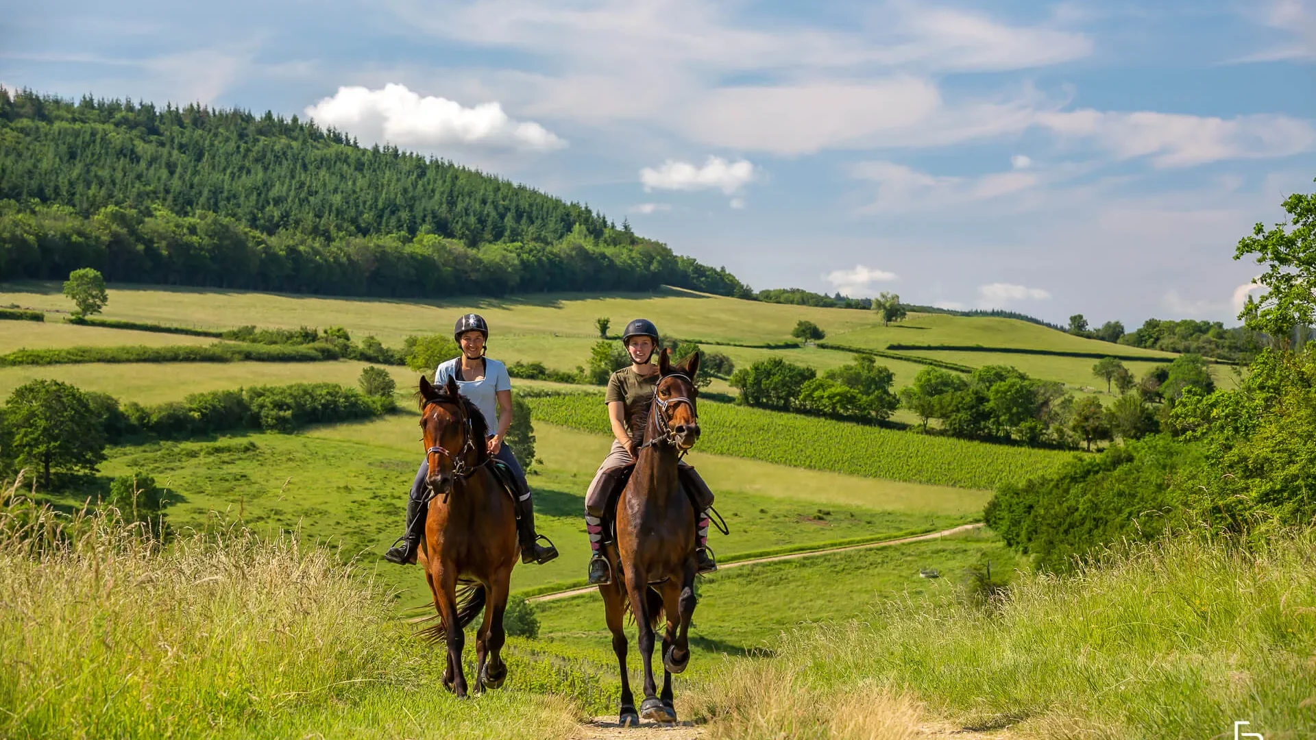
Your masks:
{"label": "round dark green tree at the left edge above the tall grass", "polygon": [[50,490],[53,470],[92,471],[105,460],[101,420],[87,395],[59,381],[18,386],[4,408],[0,446],[17,467],[38,467]]}

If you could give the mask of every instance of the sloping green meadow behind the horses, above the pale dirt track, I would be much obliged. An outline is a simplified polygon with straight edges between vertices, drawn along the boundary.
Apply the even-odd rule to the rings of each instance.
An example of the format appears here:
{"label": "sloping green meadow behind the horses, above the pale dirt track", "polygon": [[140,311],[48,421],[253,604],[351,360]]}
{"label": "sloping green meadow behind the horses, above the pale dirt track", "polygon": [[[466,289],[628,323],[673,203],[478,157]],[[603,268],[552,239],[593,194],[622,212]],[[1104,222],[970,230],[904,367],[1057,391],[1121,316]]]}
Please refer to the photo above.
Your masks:
{"label": "sloping green meadow behind the horses, above the pale dirt track", "polygon": [[[208,441],[155,442],[111,450],[105,475],[149,473],[168,483],[175,528],[203,528],[212,511],[258,532],[299,529],[311,541],[342,548],[372,564],[401,531],[407,490],[420,460],[412,415],[340,424],[301,435],[245,435]],[[607,440],[547,424],[536,427],[530,475],[537,524],[562,557],[519,566],[513,586],[526,589],[583,577],[588,560],[582,512],[584,490]],[[695,456],[732,528],[716,536],[721,557],[740,552],[909,531],[942,529],[978,519],[987,491],[894,483],[717,456]],[[78,503],[76,496],[64,499]],[[379,562],[379,575],[424,598],[418,569]]]}

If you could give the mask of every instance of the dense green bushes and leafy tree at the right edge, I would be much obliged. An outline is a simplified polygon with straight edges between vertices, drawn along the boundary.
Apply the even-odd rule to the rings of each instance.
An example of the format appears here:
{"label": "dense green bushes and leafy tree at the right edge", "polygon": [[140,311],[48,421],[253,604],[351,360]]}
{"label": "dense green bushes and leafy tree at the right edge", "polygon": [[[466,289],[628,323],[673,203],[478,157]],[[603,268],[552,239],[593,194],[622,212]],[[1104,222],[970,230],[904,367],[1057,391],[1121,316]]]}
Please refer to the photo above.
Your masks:
{"label": "dense green bushes and leafy tree at the right edge", "polygon": [[[1269,337],[1237,388],[1215,388],[1195,356],[1134,381],[1117,363],[1094,373],[1124,395],[1115,410],[1159,396],[1152,433],[1074,460],[1054,475],[1005,485],[986,521],[1048,570],[1073,570],[1112,544],[1209,532],[1237,545],[1316,521],[1316,195],[1286,199],[1286,223],[1257,224],[1237,258],[1266,267],[1240,319]],[[1138,342],[1219,338],[1219,324],[1149,323]],[[1125,334],[1128,336],[1128,334]]]}

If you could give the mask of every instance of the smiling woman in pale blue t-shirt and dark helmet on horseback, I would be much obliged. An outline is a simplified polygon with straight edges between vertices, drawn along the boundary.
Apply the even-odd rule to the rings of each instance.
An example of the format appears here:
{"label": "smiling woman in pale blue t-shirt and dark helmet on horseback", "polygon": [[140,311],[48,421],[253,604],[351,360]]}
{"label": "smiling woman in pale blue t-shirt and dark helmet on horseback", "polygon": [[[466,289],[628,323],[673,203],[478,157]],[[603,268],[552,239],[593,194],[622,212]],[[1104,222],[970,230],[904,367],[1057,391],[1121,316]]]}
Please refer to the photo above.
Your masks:
{"label": "smiling woman in pale blue t-shirt and dark helmet on horseback", "polygon": [[[453,338],[462,348],[462,354],[443,362],[434,371],[434,386],[443,387],[449,379],[457,382],[461,395],[480,410],[486,421],[497,419],[497,428],[486,440],[488,453],[504,462],[512,473],[516,494],[516,529],[521,544],[521,562],[545,564],[558,557],[551,542],[541,545],[534,532],[534,504],[530,500],[530,486],[525,482],[525,471],[512,448],[503,440],[512,425],[512,378],[507,366],[497,359],[484,357],[490,328],[478,313],[467,313],[457,320]],[[496,412],[495,412],[496,403]],[[416,562],[416,548],[425,532],[425,510],[429,486],[429,460],[420,463],[416,481],[412,483],[411,498],[407,500],[407,531],[392,548],[384,553],[384,560],[407,565]]]}

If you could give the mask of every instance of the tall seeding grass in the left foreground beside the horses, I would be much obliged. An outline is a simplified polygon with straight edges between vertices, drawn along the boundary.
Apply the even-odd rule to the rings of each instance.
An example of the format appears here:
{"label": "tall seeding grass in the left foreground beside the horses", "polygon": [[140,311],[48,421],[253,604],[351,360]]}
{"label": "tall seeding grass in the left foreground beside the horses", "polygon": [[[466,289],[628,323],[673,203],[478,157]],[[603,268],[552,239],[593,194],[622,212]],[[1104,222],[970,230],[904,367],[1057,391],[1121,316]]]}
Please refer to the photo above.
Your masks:
{"label": "tall seeding grass in the left foreground beside the horses", "polygon": [[0,492],[0,737],[542,739],[575,727],[565,697],[453,699],[442,649],[326,549],[233,527],[162,545],[113,514],[70,519],[18,491]]}

